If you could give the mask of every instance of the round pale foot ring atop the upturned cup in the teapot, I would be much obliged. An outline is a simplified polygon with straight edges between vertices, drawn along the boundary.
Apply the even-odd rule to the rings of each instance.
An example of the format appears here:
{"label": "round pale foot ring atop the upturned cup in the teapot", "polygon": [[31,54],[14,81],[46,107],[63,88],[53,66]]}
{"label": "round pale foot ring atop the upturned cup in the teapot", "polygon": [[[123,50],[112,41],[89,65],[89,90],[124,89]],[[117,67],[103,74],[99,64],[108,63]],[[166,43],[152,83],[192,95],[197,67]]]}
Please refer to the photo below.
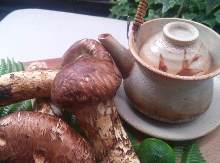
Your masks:
{"label": "round pale foot ring atop the upturned cup in the teapot", "polygon": [[171,22],[163,27],[165,38],[178,46],[187,46],[193,44],[199,37],[199,31],[196,27],[185,22]]}

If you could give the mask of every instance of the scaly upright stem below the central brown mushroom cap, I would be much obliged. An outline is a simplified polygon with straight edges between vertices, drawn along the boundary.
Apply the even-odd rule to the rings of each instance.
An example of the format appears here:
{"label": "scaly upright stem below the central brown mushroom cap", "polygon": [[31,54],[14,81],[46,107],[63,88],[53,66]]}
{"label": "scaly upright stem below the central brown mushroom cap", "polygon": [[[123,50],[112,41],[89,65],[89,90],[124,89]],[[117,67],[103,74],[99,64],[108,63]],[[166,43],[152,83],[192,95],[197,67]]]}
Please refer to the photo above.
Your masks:
{"label": "scaly upright stem below the central brown mushroom cap", "polygon": [[97,160],[102,163],[140,162],[122,126],[113,99],[76,109],[74,114],[94,147]]}

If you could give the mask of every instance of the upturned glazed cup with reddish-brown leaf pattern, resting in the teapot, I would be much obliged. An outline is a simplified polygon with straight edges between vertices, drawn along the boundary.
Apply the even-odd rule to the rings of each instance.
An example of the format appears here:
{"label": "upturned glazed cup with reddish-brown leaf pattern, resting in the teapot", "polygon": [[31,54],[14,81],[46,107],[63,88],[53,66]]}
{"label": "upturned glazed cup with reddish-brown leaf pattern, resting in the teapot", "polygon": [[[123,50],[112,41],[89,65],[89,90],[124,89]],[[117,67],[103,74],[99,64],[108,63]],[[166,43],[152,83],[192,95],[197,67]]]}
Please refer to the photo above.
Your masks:
{"label": "upturned glazed cup with reddish-brown leaf pattern, resting in the teapot", "polygon": [[154,68],[181,76],[206,74],[211,65],[211,56],[199,40],[199,31],[183,22],[168,23],[163,31],[146,40],[140,57]]}

